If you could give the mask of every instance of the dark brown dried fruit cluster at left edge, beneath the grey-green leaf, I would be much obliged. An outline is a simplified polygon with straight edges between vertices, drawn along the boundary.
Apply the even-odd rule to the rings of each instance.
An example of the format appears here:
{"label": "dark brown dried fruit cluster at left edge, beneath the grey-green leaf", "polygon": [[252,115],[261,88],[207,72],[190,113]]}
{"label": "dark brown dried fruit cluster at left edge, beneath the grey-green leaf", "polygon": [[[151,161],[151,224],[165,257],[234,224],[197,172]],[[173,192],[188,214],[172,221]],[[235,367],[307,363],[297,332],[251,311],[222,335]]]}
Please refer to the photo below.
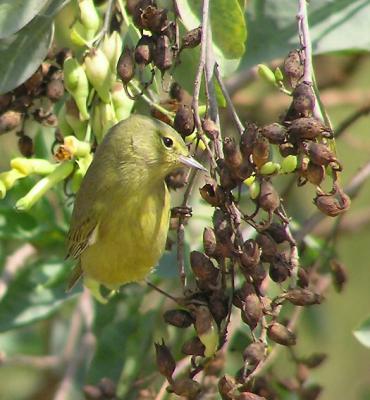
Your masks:
{"label": "dark brown dried fruit cluster at left edge, beneath the grey-green leaf", "polygon": [[63,63],[64,51],[49,51],[47,59],[37,71],[11,92],[0,95],[0,135],[16,132],[19,151],[24,157],[33,155],[33,141],[24,133],[27,119],[33,119],[46,126],[56,126],[53,112],[54,103],[64,95]]}

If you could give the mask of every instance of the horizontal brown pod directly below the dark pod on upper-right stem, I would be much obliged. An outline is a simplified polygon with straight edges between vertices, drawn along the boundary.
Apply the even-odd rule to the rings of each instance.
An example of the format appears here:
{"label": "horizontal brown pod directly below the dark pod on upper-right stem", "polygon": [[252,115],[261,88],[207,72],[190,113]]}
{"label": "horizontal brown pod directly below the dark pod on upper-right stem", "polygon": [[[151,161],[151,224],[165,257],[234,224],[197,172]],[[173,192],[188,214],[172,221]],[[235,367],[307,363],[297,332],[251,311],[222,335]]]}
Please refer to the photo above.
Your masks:
{"label": "horizontal brown pod directly below the dark pod on upper-right stem", "polygon": [[314,117],[302,117],[292,121],[288,127],[288,133],[292,142],[303,139],[315,139],[322,135],[332,137],[333,133],[321,121]]}

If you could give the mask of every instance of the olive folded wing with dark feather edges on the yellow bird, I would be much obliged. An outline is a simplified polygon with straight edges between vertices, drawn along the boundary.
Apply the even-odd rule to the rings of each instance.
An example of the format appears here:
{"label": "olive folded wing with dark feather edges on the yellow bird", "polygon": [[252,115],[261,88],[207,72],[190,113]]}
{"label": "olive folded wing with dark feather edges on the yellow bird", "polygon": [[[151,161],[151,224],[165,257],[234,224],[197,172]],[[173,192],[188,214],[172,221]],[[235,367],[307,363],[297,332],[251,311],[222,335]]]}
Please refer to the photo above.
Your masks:
{"label": "olive folded wing with dark feather edges on the yellow bird", "polygon": [[98,226],[98,221],[92,215],[73,223],[68,232],[66,258],[78,259],[82,252],[95,242]]}

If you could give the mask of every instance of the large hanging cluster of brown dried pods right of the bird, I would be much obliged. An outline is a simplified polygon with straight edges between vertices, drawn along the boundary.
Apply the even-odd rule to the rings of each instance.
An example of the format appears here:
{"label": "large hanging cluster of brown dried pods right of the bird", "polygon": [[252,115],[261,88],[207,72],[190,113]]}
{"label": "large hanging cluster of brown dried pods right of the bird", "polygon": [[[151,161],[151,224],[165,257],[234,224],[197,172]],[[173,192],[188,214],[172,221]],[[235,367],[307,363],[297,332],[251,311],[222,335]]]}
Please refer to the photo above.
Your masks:
{"label": "large hanging cluster of brown dried pods right of the bird", "polygon": [[[298,185],[312,183],[317,187],[315,204],[330,216],[345,211],[349,198],[337,182],[342,166],[330,150],[333,133],[313,116],[315,96],[312,87],[301,81],[303,71],[297,57],[298,52],[293,52],[285,62],[293,93],[283,121],[263,127],[249,124],[239,143],[225,137],[223,157],[216,158],[213,177],[200,189],[202,198],[215,208],[213,227],[204,229],[204,251],[190,254],[195,287],[180,301],[181,309],[164,314],[168,324],[180,329],[192,326],[195,330],[196,336],[187,340],[181,349],[192,359],[188,376],[174,377],[176,362],[170,349],[165,343],[156,346],[158,369],[169,382],[168,390],[179,396],[196,399],[210,394],[211,389],[200,385],[194,377],[200,371],[208,376],[207,371],[217,361],[221,362],[221,368],[217,371],[218,378],[214,378],[218,379],[223,399],[277,398],[274,385],[266,377],[258,376],[258,371],[269,357],[269,345],[291,348],[296,344],[291,323],[281,318],[281,306],[290,303],[306,307],[322,301],[320,275],[298,261],[298,245],[273,179],[278,174],[293,174]],[[296,70],[291,65],[292,58],[298,60]],[[174,127],[184,138],[193,132],[194,116],[189,106],[178,108]],[[217,125],[205,118],[202,128],[216,147],[221,138]],[[279,153],[280,160],[275,161]],[[333,177],[333,189],[325,193],[321,184],[328,170]],[[246,186],[256,204],[252,215],[241,210],[242,202],[236,200],[234,191],[240,192]],[[266,221],[256,220],[259,209],[268,214]],[[243,239],[241,230],[243,221],[255,229],[255,235],[247,240]],[[332,272],[333,280],[343,285],[343,267],[333,262]],[[271,281],[281,291],[270,297]],[[229,339],[231,315],[235,318],[238,313],[250,329],[251,343],[243,353],[243,366],[235,376],[220,378],[225,360],[220,361],[223,357],[219,350]],[[324,358],[322,354],[308,358],[295,356],[296,376],[279,378],[277,383],[301,399],[317,398],[321,387],[308,383],[309,370],[319,366]],[[275,383],[276,380],[274,377]]]}

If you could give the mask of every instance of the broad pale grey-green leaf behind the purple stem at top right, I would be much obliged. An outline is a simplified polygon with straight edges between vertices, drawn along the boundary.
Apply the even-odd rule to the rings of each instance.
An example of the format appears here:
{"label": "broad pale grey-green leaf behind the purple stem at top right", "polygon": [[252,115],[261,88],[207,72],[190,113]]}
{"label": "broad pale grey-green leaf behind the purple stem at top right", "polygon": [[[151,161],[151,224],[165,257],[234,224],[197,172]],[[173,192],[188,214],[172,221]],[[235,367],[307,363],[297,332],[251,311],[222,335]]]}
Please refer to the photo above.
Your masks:
{"label": "broad pale grey-green leaf behind the purple stem at top right", "polygon": [[[297,4],[251,0],[246,13],[248,53],[242,68],[285,57],[299,46]],[[308,20],[314,54],[370,50],[368,0],[311,0]]]}

